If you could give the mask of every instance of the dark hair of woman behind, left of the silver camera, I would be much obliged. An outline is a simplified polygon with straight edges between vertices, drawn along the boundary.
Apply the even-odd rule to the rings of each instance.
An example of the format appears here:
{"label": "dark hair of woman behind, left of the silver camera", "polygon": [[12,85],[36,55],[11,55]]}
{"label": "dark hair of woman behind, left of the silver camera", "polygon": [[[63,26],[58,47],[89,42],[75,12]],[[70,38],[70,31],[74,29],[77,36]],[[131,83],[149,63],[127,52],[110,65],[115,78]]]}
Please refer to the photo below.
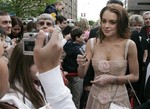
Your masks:
{"label": "dark hair of woman behind, left of the silver camera", "polygon": [[11,16],[11,21],[12,21],[12,27],[16,26],[16,25],[19,25],[21,27],[21,31],[19,32],[18,36],[13,36],[13,33],[10,34],[10,38],[13,39],[13,38],[20,38],[22,39],[23,37],[23,31],[24,31],[24,28],[23,28],[23,22],[22,20],[17,17],[17,16]]}

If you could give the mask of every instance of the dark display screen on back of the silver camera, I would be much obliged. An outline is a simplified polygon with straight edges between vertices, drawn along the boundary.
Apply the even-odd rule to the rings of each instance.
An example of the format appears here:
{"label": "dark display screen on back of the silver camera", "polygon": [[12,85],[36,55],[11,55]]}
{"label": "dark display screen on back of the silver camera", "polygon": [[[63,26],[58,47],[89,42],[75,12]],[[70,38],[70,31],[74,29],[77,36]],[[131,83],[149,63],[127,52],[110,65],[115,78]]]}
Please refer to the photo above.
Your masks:
{"label": "dark display screen on back of the silver camera", "polygon": [[35,41],[24,41],[24,50],[33,51],[35,46]]}

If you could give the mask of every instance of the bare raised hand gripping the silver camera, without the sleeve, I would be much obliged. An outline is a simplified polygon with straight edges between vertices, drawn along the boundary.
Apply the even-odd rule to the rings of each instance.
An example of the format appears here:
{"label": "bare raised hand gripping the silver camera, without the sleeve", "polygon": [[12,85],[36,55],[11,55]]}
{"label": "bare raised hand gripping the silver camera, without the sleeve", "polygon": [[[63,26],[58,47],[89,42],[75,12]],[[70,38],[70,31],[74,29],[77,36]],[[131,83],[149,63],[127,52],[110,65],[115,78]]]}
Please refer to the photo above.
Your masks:
{"label": "bare raised hand gripping the silver camera, without the sleeve", "polygon": [[37,35],[34,47],[34,61],[39,70],[39,73],[46,72],[60,64],[62,53],[62,39],[60,31],[54,29],[48,43],[43,46],[45,33],[41,30]]}

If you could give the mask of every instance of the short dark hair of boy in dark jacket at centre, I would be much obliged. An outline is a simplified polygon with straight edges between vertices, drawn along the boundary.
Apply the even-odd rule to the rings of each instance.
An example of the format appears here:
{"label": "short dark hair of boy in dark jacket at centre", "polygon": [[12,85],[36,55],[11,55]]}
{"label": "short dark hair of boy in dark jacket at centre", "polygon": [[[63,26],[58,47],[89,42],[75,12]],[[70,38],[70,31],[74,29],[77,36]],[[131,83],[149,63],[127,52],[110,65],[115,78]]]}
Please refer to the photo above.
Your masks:
{"label": "short dark hair of boy in dark jacket at centre", "polygon": [[71,39],[73,41],[76,41],[76,37],[80,37],[83,33],[84,31],[82,30],[82,28],[76,26],[70,32]]}

